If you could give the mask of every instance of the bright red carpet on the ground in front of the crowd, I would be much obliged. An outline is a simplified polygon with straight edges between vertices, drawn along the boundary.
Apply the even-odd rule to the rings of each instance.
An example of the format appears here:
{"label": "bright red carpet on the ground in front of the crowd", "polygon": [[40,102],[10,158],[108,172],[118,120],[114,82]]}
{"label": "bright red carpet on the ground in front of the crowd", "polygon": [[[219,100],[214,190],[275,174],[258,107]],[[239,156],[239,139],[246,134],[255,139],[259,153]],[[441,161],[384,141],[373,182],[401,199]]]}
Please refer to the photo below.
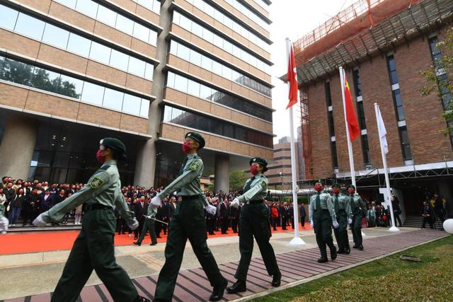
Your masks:
{"label": "bright red carpet on the ground in front of the crowd", "polygon": [[[310,224],[305,224],[306,228],[304,231],[310,230]],[[299,230],[302,228],[299,226]],[[282,231],[280,227],[277,227],[277,231],[273,233],[291,233],[292,228],[289,227],[287,230]],[[72,244],[79,235],[79,231],[45,231],[45,232],[33,232],[33,233],[7,233],[6,235],[0,235],[0,255],[11,255],[21,254],[25,252],[47,252],[52,250],[70,250]],[[166,242],[166,235],[161,233],[162,238],[157,238],[158,243]],[[220,231],[216,232],[216,235],[208,236],[208,238],[214,237],[227,237],[237,236],[229,229],[229,233],[221,234]],[[125,235],[115,235],[115,245],[132,245],[134,242],[133,237]],[[149,234],[143,240],[143,245],[151,243]]]}

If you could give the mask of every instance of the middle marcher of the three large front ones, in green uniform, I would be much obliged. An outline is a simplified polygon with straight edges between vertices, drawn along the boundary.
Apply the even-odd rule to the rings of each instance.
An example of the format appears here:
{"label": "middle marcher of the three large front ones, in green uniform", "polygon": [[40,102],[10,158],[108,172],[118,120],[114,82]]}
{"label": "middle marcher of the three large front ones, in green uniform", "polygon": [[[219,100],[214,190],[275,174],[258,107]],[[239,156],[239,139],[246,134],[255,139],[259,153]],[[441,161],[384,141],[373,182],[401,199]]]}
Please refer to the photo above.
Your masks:
{"label": "middle marcher of the three large front ones, in green uniform", "polygon": [[197,156],[197,151],[204,146],[205,139],[200,134],[196,132],[185,134],[182,148],[187,157],[181,165],[180,175],[151,199],[151,207],[158,207],[161,199],[177,191],[179,201],[171,219],[165,247],[165,264],[157,280],[154,301],[171,301],[187,240],[190,241],[193,252],[210,280],[211,286],[214,287],[210,301],[222,299],[226,286],[228,286],[228,281],[220,274],[217,262],[206,243],[206,221],[203,208],[208,214],[213,214],[216,207],[207,203],[205,194],[200,189],[203,162],[200,156]]}

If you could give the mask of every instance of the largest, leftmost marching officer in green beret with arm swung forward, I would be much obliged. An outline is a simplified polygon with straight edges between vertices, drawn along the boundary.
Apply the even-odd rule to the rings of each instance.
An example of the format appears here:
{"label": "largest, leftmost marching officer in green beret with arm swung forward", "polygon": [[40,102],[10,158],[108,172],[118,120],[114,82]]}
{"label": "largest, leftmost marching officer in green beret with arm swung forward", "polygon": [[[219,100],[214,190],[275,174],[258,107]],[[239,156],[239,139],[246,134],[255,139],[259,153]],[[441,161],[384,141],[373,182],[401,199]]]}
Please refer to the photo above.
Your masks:
{"label": "largest, leftmost marching officer in green beret with arm swung forward", "polygon": [[102,165],[88,180],[88,185],[33,221],[35,226],[61,221],[69,211],[86,203],[82,230],[74,242],[51,301],[76,301],[93,269],[114,301],[149,301],[139,296],[127,273],[115,260],[113,236],[116,219],[113,207],[120,211],[130,228],[135,229],[139,225],[121,194],[117,161],[125,158],[125,152],[126,147],[120,140],[110,137],[101,139],[96,158]]}

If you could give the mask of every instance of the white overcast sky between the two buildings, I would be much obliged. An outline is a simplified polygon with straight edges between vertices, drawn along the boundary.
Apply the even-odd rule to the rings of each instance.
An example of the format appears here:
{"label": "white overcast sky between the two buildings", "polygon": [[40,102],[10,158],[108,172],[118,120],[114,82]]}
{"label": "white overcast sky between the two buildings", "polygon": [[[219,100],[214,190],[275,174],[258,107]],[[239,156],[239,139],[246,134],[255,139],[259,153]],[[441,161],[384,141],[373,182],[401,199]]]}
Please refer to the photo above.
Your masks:
{"label": "white overcast sky between the two buildings", "polygon": [[[285,38],[292,41],[309,33],[331,16],[350,6],[354,0],[273,0],[270,6],[271,48],[273,66],[273,115],[274,134],[277,137],[289,136],[289,115],[285,110],[287,105],[287,85],[277,79],[287,71]],[[300,124],[300,109],[294,105],[294,129]],[[294,132],[297,136],[297,132]]]}

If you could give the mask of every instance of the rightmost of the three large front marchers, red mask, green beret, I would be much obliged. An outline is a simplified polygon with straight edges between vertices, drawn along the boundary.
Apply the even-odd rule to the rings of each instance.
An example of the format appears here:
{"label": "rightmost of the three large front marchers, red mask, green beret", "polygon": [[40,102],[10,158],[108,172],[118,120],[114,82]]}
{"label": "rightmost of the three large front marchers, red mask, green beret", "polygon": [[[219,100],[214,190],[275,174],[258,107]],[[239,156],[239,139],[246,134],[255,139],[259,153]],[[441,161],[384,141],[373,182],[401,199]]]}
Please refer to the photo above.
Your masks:
{"label": "rightmost of the three large front marchers, red mask, green beret", "polygon": [[234,275],[238,281],[226,289],[230,294],[247,290],[246,279],[253,252],[253,237],[258,243],[268,274],[273,276],[272,286],[280,286],[280,279],[282,278],[275,252],[269,243],[272,234],[270,233],[268,210],[263,203],[268,192],[268,178],[263,175],[263,172],[268,170],[268,163],[263,158],[252,158],[250,165],[253,177],[247,180],[243,187],[243,194],[231,202],[231,207],[237,208],[241,202],[244,205],[239,216],[241,260]]}

